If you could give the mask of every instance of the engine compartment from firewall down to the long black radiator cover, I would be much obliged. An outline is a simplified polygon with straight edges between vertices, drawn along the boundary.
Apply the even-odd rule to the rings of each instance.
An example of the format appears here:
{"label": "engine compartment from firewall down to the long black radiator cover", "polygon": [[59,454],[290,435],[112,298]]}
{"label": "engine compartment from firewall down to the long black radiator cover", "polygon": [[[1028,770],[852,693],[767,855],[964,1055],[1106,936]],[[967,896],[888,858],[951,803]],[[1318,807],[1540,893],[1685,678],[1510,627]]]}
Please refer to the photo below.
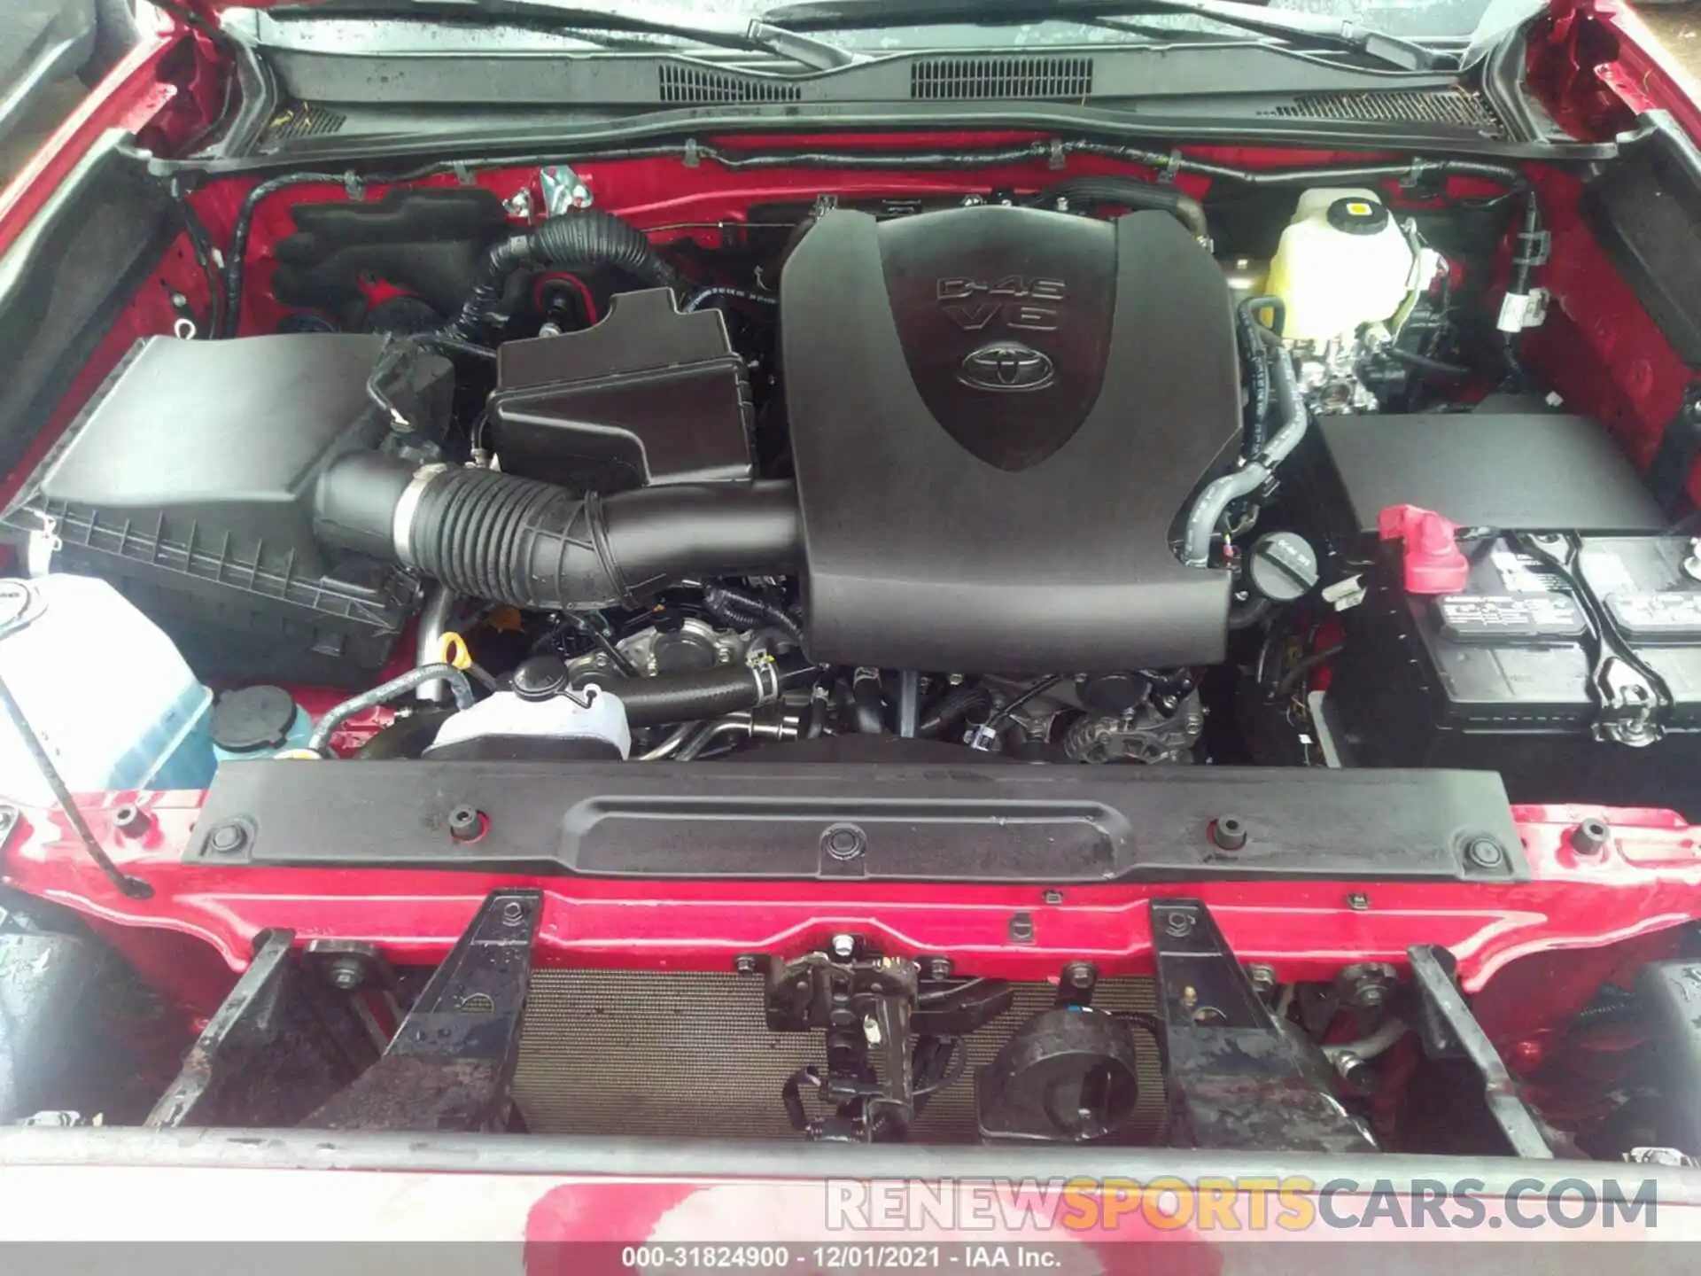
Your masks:
{"label": "engine compartment from firewall down to the long black radiator cover", "polygon": [[1536,179],[988,153],[833,189],[854,160],[769,184],[808,199],[728,165],[633,204],[631,162],[255,187],[260,289],[172,284],[177,337],[7,526],[265,689],[219,757],[412,677],[313,749],[376,708],[362,755],[866,735],[1684,805],[1701,570],[1521,356]]}

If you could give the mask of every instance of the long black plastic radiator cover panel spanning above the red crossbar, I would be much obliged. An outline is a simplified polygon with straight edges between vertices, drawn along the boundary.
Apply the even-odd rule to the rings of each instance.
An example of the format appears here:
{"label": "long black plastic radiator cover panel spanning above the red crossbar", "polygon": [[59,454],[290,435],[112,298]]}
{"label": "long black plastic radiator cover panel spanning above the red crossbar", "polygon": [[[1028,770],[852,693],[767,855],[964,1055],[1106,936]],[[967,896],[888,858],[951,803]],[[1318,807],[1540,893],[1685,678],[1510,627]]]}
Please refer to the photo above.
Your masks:
{"label": "long black plastic radiator cover panel spanning above the red crossbar", "polygon": [[[449,835],[449,812],[463,805],[488,820],[471,846]],[[1213,822],[1228,813],[1247,830],[1237,851],[1211,840]],[[226,822],[248,834],[230,856],[208,846]],[[1482,839],[1505,852],[1493,869],[1466,857]],[[973,762],[228,762],[187,857],[1048,885],[1527,876],[1505,789],[1490,772]]]}

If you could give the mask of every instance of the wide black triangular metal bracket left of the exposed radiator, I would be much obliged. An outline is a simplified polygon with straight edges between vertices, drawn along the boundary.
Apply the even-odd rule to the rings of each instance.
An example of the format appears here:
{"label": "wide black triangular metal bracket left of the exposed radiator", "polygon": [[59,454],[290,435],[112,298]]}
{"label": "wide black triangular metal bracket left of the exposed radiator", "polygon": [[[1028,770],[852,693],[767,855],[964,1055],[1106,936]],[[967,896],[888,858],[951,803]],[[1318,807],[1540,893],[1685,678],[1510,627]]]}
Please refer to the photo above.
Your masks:
{"label": "wide black triangular metal bracket left of the exposed radiator", "polygon": [[502,1130],[543,891],[492,891],[390,1048],[308,1121],[321,1130]]}

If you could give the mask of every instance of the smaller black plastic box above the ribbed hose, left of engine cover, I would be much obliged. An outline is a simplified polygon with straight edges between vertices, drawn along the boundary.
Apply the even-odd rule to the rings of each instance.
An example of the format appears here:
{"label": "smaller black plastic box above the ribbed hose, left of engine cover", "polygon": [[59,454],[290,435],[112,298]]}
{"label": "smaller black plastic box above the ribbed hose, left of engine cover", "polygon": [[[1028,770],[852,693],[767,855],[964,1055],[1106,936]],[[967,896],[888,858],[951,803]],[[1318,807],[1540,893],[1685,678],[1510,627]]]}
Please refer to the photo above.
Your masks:
{"label": "smaller black plastic box above the ribbed hose, left of engine cover", "polygon": [[490,429],[502,470],[578,492],[752,476],[750,385],[720,311],[665,288],[583,332],[505,342]]}

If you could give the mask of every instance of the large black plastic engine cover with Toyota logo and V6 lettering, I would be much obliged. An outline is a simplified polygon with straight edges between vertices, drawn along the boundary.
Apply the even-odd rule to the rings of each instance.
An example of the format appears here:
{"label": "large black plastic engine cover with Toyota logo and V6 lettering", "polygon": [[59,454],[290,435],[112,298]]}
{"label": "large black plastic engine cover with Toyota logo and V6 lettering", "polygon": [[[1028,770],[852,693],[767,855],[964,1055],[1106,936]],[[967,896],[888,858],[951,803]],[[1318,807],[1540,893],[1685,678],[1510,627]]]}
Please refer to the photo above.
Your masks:
{"label": "large black plastic engine cover with Toyota logo and V6 lettering", "polygon": [[1165,213],[828,213],[781,281],[811,657],[1221,660],[1228,573],[1170,529],[1240,441],[1216,262]]}

